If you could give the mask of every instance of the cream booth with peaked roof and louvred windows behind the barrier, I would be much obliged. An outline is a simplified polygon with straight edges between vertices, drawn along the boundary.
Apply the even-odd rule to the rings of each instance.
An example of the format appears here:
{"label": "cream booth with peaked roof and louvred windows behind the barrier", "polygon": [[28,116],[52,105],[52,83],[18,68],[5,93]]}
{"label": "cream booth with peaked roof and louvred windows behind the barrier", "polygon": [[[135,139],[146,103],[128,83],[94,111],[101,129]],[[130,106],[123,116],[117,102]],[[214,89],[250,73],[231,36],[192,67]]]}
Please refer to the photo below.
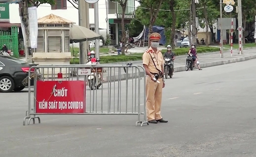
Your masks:
{"label": "cream booth with peaked roof and louvred windows behind the barrier", "polygon": [[[70,64],[69,31],[72,24],[74,22],[54,14],[38,19],[37,48],[32,57],[35,64],[40,66]],[[69,71],[63,69],[61,73],[66,76]],[[52,75],[51,69],[44,71],[43,74],[57,77],[56,74]]]}

